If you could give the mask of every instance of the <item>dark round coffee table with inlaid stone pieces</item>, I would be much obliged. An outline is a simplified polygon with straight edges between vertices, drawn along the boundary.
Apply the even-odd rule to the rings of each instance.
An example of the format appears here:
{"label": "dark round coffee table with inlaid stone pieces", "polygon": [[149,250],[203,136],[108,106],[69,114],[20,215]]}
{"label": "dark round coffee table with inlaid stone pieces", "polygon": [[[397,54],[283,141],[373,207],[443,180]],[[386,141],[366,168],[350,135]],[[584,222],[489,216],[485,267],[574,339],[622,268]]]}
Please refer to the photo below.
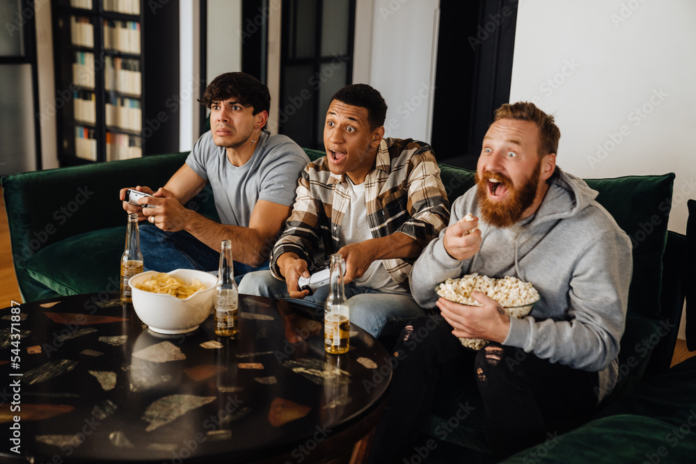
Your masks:
{"label": "dark round coffee table with inlaid stone pieces", "polygon": [[3,462],[322,462],[386,408],[389,354],[356,326],[326,355],[322,323],[285,301],[240,296],[229,339],[212,317],[153,333],[117,298],[0,310]]}

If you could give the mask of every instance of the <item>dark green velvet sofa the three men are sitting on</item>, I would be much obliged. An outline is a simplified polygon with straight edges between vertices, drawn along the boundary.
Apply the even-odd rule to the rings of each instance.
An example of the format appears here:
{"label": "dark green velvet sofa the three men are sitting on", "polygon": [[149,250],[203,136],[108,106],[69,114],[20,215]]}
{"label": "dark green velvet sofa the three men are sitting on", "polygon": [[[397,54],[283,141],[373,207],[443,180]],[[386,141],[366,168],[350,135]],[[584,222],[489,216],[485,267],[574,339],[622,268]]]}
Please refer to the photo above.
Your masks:
{"label": "dark green velvet sofa the three men are sitting on", "polygon": [[[306,152],[310,159],[323,155]],[[186,155],[162,154],[3,177],[13,262],[24,301],[118,289],[126,223],[118,190],[164,185]],[[450,202],[473,185],[472,171],[440,167]],[[686,237],[667,231],[673,182],[674,174],[587,179],[599,191],[597,200],[633,242],[633,269],[626,269],[633,277],[619,353],[619,385],[607,405],[642,378],[670,366],[686,291]],[[216,218],[209,189],[187,206]],[[445,462],[457,462],[454,456],[485,461],[489,450],[481,426],[482,408],[443,439],[438,431],[456,413],[459,401],[466,399],[445,401],[445,397],[436,404],[423,432],[438,440],[439,449],[457,450]]]}

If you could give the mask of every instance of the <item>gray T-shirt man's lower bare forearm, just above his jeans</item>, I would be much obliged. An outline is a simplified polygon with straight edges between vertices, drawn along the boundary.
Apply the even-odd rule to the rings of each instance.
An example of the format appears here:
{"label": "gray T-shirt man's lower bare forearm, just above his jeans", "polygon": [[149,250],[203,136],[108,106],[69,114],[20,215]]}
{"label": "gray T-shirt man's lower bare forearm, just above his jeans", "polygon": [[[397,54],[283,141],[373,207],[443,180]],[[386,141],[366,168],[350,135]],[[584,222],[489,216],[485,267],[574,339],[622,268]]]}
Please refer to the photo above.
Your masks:
{"label": "gray T-shirt man's lower bare forearm, just above his jeans", "polygon": [[276,237],[262,237],[258,230],[239,225],[226,225],[211,221],[195,211],[187,214],[184,230],[214,250],[220,242],[232,242],[232,259],[249,266],[260,266],[271,253]]}

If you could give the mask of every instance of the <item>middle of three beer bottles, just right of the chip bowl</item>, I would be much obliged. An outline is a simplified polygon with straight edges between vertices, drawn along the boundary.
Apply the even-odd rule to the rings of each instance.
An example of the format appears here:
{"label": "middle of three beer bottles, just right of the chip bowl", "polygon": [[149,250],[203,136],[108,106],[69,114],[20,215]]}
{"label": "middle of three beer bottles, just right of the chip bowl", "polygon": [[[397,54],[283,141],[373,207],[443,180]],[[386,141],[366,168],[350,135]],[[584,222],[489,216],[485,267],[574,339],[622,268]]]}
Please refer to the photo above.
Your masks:
{"label": "middle of three beer bottles, just right of the chip bowl", "polygon": [[220,244],[220,264],[215,295],[215,335],[234,337],[239,331],[239,289],[232,263],[232,242]]}

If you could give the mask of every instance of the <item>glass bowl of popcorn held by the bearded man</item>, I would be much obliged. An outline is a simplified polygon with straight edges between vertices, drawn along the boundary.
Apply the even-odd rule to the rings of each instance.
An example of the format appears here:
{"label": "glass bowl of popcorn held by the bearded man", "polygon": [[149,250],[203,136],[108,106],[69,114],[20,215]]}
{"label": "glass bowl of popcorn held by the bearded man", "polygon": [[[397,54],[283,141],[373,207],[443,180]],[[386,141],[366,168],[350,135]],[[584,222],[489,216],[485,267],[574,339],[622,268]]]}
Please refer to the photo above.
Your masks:
{"label": "glass bowl of popcorn held by the bearded man", "polygon": [[[500,303],[506,314],[518,319],[530,313],[539,301],[539,292],[530,282],[506,275],[502,279],[478,275],[464,275],[458,279],[448,279],[435,287],[435,293],[446,300],[462,305],[481,306],[471,293],[480,291]],[[460,338],[459,342],[467,348],[480,350],[489,342],[479,338]]]}

